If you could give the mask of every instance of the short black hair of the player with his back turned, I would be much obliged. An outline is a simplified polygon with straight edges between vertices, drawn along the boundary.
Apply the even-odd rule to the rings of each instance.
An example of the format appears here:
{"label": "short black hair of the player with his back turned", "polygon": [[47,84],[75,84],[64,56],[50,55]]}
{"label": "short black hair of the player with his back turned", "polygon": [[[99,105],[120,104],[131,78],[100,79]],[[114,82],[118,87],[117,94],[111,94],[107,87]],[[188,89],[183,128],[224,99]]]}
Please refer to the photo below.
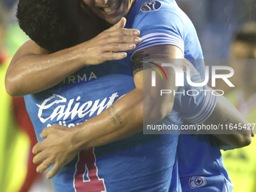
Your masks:
{"label": "short black hair of the player with his back turned", "polygon": [[105,26],[84,13],[81,0],[20,0],[17,19],[29,38],[50,52],[87,41]]}

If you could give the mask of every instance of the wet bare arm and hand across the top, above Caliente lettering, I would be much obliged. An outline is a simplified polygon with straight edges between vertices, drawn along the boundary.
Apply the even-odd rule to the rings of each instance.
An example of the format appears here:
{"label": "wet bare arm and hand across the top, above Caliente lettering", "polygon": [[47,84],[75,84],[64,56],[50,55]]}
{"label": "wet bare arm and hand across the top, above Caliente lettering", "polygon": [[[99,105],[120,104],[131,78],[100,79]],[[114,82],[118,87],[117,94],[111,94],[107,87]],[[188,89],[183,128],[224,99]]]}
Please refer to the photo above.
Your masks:
{"label": "wet bare arm and hand across the top, above Caliente lettering", "polygon": [[127,54],[123,51],[133,50],[140,42],[139,31],[124,29],[125,23],[122,18],[96,38],[56,53],[49,53],[32,40],[26,41],[8,68],[7,92],[11,96],[38,93],[59,84],[84,66],[125,58]]}

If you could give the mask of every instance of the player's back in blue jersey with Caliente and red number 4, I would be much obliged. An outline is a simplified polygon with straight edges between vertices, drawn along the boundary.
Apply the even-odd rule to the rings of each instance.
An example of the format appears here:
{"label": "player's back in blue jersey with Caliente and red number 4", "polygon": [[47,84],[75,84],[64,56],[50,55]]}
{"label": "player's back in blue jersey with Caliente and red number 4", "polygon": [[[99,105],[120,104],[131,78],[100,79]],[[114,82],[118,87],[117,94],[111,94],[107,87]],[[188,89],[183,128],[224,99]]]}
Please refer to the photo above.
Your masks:
{"label": "player's back in blue jersey with Caliente and red number 4", "polygon": [[[38,141],[44,127],[72,127],[135,88],[130,57],[81,69],[56,87],[25,96]],[[56,191],[168,191],[178,136],[137,133],[81,151],[53,178]]]}

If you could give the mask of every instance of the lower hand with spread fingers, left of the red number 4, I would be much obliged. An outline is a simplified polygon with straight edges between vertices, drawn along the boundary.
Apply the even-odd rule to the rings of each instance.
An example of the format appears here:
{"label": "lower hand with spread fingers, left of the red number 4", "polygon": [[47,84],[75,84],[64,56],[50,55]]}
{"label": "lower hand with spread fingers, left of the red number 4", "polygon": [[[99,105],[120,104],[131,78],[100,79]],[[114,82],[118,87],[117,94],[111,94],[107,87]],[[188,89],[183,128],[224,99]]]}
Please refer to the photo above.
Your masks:
{"label": "lower hand with spread fingers, left of the red number 4", "polygon": [[79,150],[72,143],[72,129],[66,126],[53,125],[44,128],[40,134],[44,141],[38,142],[32,149],[37,154],[33,163],[42,163],[37,167],[37,172],[44,172],[53,163],[53,168],[47,173],[46,178],[52,178],[63,166],[66,166],[78,154]]}

